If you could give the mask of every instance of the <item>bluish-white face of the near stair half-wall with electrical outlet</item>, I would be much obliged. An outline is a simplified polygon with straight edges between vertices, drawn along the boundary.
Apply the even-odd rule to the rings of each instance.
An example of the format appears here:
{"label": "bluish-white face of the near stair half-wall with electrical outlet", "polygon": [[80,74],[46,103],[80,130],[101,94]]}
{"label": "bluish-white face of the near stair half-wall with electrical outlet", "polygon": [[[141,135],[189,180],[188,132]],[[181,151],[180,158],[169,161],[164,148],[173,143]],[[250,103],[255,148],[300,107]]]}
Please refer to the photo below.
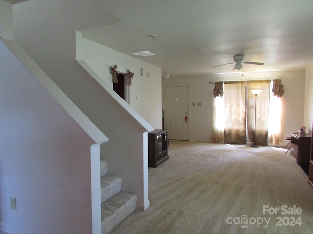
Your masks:
{"label": "bluish-white face of the near stair half-wall with electrical outlet", "polygon": [[94,141],[2,41],[0,94],[1,229],[92,233]]}

